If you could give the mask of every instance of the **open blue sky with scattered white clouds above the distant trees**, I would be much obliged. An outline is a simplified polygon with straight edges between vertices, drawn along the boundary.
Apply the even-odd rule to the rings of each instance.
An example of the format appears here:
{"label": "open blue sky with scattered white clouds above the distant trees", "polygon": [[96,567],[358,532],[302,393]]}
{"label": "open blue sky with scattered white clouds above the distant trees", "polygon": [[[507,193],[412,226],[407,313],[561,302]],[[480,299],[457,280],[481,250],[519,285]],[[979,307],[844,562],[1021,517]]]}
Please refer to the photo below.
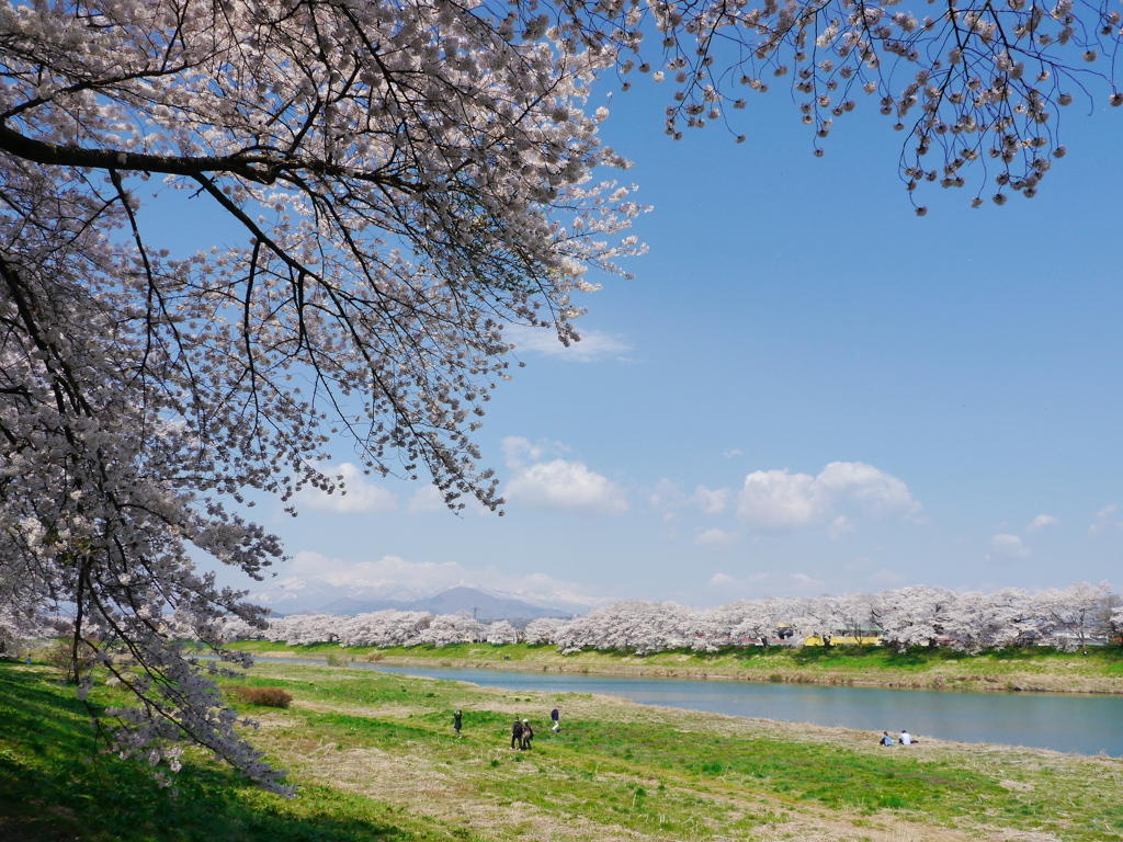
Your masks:
{"label": "open blue sky with scattered white clouds above the distant trees", "polygon": [[672,141],[669,93],[614,94],[603,131],[654,205],[636,278],[591,277],[586,342],[527,337],[491,402],[506,515],[356,482],[258,510],[279,576],[694,605],[1123,584],[1123,109],[1065,112],[1035,199],[973,210],[971,172],[919,218],[876,103],[816,158],[784,91],[733,112],[743,144]]}

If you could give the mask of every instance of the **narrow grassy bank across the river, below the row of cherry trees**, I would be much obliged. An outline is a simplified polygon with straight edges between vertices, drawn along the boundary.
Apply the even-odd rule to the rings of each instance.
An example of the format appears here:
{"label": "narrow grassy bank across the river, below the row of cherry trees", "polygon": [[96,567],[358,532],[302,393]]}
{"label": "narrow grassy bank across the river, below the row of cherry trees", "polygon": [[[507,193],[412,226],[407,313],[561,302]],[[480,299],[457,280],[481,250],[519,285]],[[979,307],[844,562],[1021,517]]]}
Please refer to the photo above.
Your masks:
{"label": "narrow grassy bank across the river, below the row of cherry trees", "polygon": [[261,656],[375,661],[387,666],[584,672],[643,678],[694,678],[912,689],[1020,690],[1123,694],[1123,653],[1004,650],[967,655],[950,650],[895,652],[884,647],[759,647],[716,653],[688,651],[560,655],[556,647],[456,643],[376,649],[336,643],[290,647],[246,641],[235,648]]}

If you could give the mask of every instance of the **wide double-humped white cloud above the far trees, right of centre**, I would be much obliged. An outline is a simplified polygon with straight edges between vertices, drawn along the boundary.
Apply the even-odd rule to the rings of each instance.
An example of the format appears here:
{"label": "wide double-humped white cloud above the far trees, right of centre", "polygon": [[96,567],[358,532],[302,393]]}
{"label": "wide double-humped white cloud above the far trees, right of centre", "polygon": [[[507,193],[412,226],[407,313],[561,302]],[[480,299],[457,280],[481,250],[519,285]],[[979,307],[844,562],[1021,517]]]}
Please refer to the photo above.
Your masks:
{"label": "wide double-humped white cloud above the far trees, right of centre", "polygon": [[745,477],[737,514],[763,531],[791,531],[834,520],[836,531],[852,528],[837,520],[846,509],[868,518],[915,518],[920,503],[903,482],[860,461],[833,461],[819,476],[756,470]]}

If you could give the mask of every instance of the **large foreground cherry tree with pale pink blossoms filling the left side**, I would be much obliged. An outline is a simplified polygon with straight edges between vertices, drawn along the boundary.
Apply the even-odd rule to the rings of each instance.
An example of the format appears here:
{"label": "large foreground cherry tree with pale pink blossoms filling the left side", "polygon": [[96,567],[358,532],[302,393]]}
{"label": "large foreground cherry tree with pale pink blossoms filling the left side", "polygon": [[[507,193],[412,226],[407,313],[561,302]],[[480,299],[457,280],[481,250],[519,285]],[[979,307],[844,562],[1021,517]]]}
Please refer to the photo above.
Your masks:
{"label": "large foreground cherry tree with pale pink blossoms filling the left side", "polygon": [[[135,694],[122,753],[174,766],[186,733],[286,791],[235,730],[221,668],[159,619],[246,662],[212,621],[259,610],[190,555],[261,576],[281,548],[231,505],[339,489],[317,469],[332,434],[451,507],[500,505],[471,433],[509,376],[503,328],[576,339],[570,295],[637,249],[618,235],[640,210],[590,181],[626,165],[584,110],[614,52],[536,21],[0,1],[3,594],[69,610],[75,662],[92,648]],[[231,245],[171,254],[148,210],[173,191],[225,216]]]}

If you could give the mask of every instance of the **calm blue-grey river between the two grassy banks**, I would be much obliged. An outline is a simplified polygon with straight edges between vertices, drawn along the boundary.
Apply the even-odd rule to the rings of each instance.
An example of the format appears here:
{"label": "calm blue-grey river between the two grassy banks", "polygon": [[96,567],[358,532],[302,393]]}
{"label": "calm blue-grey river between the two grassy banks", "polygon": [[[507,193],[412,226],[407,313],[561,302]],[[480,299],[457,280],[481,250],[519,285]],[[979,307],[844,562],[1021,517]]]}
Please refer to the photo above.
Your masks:
{"label": "calm blue-grey river between the two grassy banks", "polygon": [[[289,660],[261,658],[258,660]],[[646,705],[684,707],[733,716],[758,716],[816,725],[866,729],[879,734],[907,729],[921,740],[1032,745],[1081,754],[1123,757],[1123,697],[1063,693],[961,693],[871,687],[627,678],[566,672],[385,667],[351,661],[358,669],[404,672],[485,687],[544,693],[599,693]],[[549,711],[542,711],[546,717]],[[563,704],[563,725],[565,723]],[[873,738],[871,738],[873,739]]]}

